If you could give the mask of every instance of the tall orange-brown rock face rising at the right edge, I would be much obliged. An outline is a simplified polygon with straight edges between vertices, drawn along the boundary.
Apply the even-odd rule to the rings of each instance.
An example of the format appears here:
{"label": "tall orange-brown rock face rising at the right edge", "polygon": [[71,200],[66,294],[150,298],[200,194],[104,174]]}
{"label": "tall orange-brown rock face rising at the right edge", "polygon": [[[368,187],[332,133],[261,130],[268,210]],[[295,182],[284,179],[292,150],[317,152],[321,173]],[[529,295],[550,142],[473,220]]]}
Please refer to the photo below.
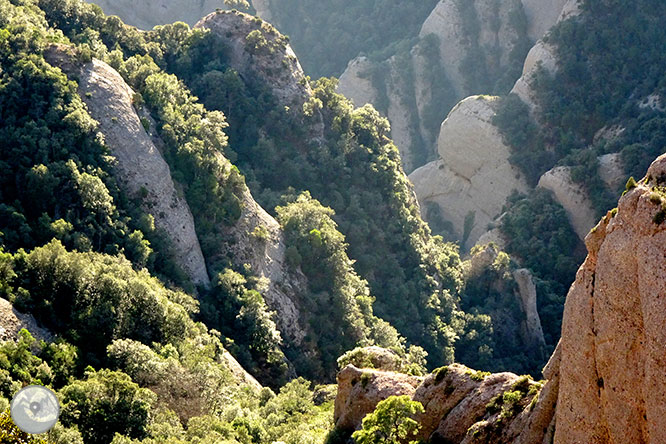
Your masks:
{"label": "tall orange-brown rock face rising at the right edge", "polygon": [[666,442],[665,178],[661,156],[586,238],[564,308],[556,444]]}

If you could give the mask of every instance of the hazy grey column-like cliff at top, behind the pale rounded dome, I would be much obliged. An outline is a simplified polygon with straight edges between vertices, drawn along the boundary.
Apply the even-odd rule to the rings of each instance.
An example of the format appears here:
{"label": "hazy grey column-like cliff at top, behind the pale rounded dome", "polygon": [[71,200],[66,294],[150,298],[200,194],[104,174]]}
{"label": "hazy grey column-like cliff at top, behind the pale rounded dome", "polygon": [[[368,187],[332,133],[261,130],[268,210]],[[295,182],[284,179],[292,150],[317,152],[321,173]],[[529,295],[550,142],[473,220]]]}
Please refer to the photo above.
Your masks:
{"label": "hazy grey column-like cliff at top, behind the pale rounded dome", "polygon": [[[505,92],[502,85],[515,80],[510,72],[515,70],[515,64],[523,63],[523,46],[540,39],[561,19],[563,8],[571,9],[568,3],[441,0],[423,23],[417,43],[405,54],[405,66],[396,71],[391,69],[391,59],[373,64],[365,57],[356,58],[340,77],[338,90],[357,106],[369,102],[387,114],[405,170],[411,172],[422,165],[419,158],[428,159],[435,154],[437,131],[431,124],[433,118],[441,116],[441,121],[448,109],[467,95],[491,93],[495,88]],[[529,95],[526,79],[536,62],[543,60],[548,64],[541,54],[543,44],[536,48],[528,58],[523,80],[514,88],[525,97]],[[374,68],[385,74],[374,78],[359,75],[361,67],[365,73]],[[396,91],[397,75],[407,86]],[[475,81],[474,77],[480,79]]]}

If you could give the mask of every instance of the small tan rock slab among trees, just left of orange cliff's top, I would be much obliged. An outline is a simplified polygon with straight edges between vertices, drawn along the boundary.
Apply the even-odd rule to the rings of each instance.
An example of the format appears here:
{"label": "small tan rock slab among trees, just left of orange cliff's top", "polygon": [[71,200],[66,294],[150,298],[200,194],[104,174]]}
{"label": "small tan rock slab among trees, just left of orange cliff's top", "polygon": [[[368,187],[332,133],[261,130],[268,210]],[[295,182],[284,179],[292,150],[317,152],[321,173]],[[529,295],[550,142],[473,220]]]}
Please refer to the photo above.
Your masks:
{"label": "small tan rock slab among trees, just left of orange cliff's top", "polygon": [[564,207],[569,222],[583,240],[596,224],[597,216],[583,187],[571,180],[569,167],[555,167],[539,179],[539,187],[553,192],[555,200]]}

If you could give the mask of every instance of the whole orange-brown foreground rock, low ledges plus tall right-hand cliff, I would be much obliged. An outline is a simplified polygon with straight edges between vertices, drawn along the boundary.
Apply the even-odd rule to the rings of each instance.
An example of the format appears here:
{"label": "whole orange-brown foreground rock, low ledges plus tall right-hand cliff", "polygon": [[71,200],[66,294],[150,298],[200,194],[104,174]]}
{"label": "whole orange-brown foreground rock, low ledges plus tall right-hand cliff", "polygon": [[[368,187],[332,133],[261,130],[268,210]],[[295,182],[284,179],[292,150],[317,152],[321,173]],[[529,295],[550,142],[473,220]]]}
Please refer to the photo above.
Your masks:
{"label": "whole orange-brown foreground rock, low ledges plus tall right-hand cliff", "polygon": [[[666,442],[665,219],[663,155],[585,238],[588,256],[567,295],[562,339],[544,368],[547,382],[538,398],[505,408],[515,395],[504,393],[520,391],[525,381],[518,384],[507,374],[474,374],[477,381],[472,383],[475,378],[465,379],[467,371],[454,365],[444,375],[434,372],[413,391],[416,380],[400,375],[399,394],[410,395],[425,408],[416,418],[423,437],[433,439],[428,434],[436,427],[443,442],[464,444]],[[371,370],[355,368],[343,370],[339,381],[350,385],[349,376],[368,372],[365,379],[373,381]],[[442,383],[450,374],[451,382]],[[347,406],[364,399],[364,411],[369,411],[380,398],[398,394],[386,388],[391,375],[382,372],[381,391],[361,386],[339,395],[336,421],[347,418],[345,426],[359,427],[360,419],[352,418]],[[499,416],[492,413],[497,402],[486,404],[485,413],[477,410],[488,398],[486,381],[502,384],[496,391],[504,401]],[[516,382],[507,388],[511,381]],[[527,398],[530,393],[528,389]],[[460,416],[454,415],[456,410]]]}

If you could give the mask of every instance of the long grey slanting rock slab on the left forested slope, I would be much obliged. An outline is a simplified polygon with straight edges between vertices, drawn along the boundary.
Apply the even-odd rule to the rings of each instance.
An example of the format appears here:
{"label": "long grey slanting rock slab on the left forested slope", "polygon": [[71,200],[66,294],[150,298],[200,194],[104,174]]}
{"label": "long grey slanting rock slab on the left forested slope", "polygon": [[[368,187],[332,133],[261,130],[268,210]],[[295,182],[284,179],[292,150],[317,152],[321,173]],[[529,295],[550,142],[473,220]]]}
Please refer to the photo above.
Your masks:
{"label": "long grey slanting rock slab on the left forested slope", "polygon": [[68,73],[76,73],[79,95],[99,123],[104,142],[117,160],[116,177],[125,193],[142,202],[174,250],[174,261],[194,284],[209,285],[208,271],[194,228],[194,219],[176,189],[166,161],[143,127],[134,106],[134,92],[116,70],[94,59],[72,63],[62,46],[52,46],[46,58]]}

